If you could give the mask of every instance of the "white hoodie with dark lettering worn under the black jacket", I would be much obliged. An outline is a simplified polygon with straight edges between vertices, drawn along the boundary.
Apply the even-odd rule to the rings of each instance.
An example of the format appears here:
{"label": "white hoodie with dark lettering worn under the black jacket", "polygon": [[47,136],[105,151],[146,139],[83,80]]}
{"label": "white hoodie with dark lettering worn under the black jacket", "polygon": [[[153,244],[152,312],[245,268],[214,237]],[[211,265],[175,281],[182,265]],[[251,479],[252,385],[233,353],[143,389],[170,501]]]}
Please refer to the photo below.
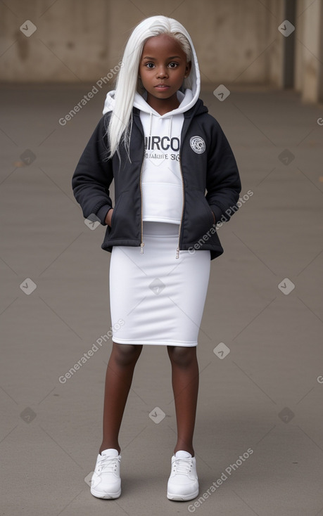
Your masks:
{"label": "white hoodie with dark lettering worn under the black jacket", "polygon": [[[160,115],[135,93],[134,107],[140,110],[144,128],[145,155],[141,177],[143,221],[160,221],[179,224],[182,217],[183,189],[179,165],[179,148],[184,112],[194,106],[201,89],[200,73],[194,46],[190,40],[194,59],[191,67],[192,89],[177,91],[180,102],[175,110]],[[103,115],[113,109],[115,91],[109,91]]]}

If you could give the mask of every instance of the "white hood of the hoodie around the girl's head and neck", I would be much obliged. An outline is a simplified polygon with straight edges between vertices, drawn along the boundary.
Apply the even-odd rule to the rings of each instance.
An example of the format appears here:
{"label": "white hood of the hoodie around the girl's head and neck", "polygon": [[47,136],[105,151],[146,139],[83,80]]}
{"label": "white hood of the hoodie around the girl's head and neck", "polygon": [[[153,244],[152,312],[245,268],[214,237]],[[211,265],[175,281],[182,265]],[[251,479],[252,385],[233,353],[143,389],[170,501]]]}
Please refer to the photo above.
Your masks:
{"label": "white hood of the hoodie around the girl's head and neck", "polygon": [[[191,40],[191,37],[189,37],[188,35],[186,37],[189,39],[192,51],[191,72],[189,74],[189,82],[191,83],[191,89],[185,89],[184,93],[180,90],[177,91],[177,98],[180,102],[179,107],[175,110],[165,113],[165,115],[160,116],[160,114],[157,111],[153,110],[153,108],[151,108],[151,106],[148,105],[148,103],[146,103],[147,93],[145,91],[143,95],[140,95],[140,93],[138,92],[135,93],[134,108],[138,108],[143,112],[156,115],[159,118],[168,118],[172,115],[177,115],[185,111],[188,111],[196,104],[201,91],[201,75],[200,69],[198,67],[198,59],[196,56],[196,51],[194,49],[193,41]],[[106,101],[104,103],[103,115],[113,110],[114,96],[115,90],[108,91],[106,95]]]}

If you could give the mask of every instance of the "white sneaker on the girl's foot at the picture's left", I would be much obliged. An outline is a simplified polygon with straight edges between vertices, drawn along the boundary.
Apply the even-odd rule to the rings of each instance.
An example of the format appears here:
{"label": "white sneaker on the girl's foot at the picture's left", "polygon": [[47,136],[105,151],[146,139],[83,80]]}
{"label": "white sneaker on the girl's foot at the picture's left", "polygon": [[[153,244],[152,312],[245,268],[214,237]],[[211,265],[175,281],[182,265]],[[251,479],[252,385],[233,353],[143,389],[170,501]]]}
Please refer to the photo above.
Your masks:
{"label": "white sneaker on the girl's foot at the picture's left", "polygon": [[97,498],[119,498],[121,494],[118,450],[108,448],[99,453],[91,478],[91,494]]}

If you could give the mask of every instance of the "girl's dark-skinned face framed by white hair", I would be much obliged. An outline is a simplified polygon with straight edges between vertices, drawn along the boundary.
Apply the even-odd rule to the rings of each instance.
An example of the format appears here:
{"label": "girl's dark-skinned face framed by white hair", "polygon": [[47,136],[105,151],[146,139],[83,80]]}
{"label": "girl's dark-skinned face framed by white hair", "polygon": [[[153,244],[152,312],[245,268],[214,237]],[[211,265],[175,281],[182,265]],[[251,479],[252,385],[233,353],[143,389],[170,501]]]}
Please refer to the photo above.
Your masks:
{"label": "girl's dark-skinned face framed by white hair", "polygon": [[157,111],[177,108],[177,91],[190,71],[191,63],[187,63],[186,53],[175,38],[168,34],[149,38],[139,64],[147,103]]}

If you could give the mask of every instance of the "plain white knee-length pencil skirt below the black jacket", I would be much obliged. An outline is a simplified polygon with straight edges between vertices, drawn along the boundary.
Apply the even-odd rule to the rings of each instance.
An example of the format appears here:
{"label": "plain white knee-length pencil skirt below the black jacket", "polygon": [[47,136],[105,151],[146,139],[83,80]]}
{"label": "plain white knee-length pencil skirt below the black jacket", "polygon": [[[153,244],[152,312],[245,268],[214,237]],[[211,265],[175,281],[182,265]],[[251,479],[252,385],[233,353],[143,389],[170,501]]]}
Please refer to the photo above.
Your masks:
{"label": "plain white knee-length pencil skirt below the black jacket", "polygon": [[198,344],[210,277],[210,251],[180,251],[178,224],[144,221],[140,247],[115,245],[110,257],[113,342]]}

